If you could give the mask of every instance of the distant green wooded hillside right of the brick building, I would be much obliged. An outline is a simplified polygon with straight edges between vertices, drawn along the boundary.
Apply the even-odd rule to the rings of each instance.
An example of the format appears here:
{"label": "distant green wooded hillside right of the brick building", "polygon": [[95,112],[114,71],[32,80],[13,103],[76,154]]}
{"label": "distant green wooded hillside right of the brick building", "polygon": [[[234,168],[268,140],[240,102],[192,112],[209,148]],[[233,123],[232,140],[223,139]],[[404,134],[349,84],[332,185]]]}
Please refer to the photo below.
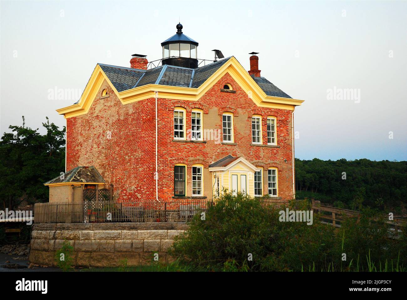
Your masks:
{"label": "distant green wooded hillside right of the brick building", "polygon": [[406,207],[407,162],[295,159],[296,198],[313,197],[336,207]]}

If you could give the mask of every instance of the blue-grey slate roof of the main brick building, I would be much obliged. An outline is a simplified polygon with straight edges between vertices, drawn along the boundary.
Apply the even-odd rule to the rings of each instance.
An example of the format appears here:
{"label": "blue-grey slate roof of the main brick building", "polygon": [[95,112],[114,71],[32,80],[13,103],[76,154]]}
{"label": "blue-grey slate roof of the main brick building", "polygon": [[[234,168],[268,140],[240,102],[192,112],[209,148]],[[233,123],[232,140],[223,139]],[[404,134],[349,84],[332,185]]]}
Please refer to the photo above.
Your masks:
{"label": "blue-grey slate roof of the main brick building", "polygon": [[[117,91],[121,92],[148,84],[198,88],[229,59],[230,57],[196,69],[161,65],[149,70],[139,70],[101,63],[99,65]],[[254,77],[253,79],[267,96],[291,98],[266,78]]]}

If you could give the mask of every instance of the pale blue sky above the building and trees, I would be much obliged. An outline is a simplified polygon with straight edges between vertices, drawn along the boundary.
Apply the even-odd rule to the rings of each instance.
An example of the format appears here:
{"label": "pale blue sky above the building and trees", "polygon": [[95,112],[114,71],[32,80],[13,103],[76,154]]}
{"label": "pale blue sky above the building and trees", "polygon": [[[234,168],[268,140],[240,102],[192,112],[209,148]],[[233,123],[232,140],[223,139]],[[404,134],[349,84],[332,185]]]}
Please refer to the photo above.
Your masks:
{"label": "pale blue sky above the building and trees", "polygon": [[[130,55],[160,59],[160,43],[183,32],[249,68],[293,98],[295,157],[407,160],[407,2],[1,1],[0,133],[10,124],[59,126],[55,87],[82,91],[96,63],[129,67]],[[392,56],[392,57],[389,57]],[[328,89],[358,100],[328,100]],[[389,139],[389,131],[393,139]]]}

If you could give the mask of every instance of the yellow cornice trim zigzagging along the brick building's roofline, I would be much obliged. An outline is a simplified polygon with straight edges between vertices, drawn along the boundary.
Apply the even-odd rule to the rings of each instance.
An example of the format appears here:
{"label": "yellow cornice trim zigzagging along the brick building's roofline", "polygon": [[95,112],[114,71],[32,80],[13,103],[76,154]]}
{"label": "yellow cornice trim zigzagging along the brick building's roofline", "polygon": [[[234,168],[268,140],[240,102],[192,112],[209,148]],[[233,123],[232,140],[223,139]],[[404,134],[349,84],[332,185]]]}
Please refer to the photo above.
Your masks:
{"label": "yellow cornice trim zigzagging along the brick building's roofline", "polygon": [[58,109],[57,112],[59,114],[64,114],[66,118],[88,113],[98,90],[101,88],[103,80],[106,80],[109,83],[122,104],[153,98],[155,97],[155,91],[158,91],[159,98],[197,101],[226,73],[229,73],[230,76],[232,76],[236,83],[249,95],[258,107],[294,110],[295,106],[301,105],[302,102],[304,102],[304,100],[298,99],[267,96],[242,65],[234,57],[231,57],[199,88],[149,84],[128,89],[120,93],[114,88],[101,67],[96,65],[79,103]]}

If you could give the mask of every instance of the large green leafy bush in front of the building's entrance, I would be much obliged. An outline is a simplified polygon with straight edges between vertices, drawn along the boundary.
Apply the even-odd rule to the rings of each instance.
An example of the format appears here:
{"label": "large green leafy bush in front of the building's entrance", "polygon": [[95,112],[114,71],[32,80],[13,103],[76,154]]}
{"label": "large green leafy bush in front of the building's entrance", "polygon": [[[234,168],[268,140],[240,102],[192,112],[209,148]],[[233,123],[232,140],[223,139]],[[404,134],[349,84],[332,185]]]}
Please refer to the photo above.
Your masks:
{"label": "large green leafy bush in front of the building's entrance", "polygon": [[367,271],[372,262],[379,266],[392,259],[407,265],[407,239],[390,238],[375,211],[365,209],[337,231],[318,214],[312,225],[280,222],[279,211],[247,195],[223,193],[206,220],[196,215],[190,229],[175,238],[170,255],[193,270],[214,271]]}

